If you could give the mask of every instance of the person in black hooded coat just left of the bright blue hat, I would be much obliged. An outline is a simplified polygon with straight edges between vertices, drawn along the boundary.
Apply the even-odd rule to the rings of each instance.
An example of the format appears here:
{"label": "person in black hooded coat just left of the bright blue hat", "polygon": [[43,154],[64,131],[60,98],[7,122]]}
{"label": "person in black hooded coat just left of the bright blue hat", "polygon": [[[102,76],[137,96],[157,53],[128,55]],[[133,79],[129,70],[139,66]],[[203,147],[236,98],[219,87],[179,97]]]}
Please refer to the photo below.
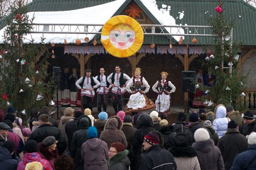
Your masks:
{"label": "person in black hooded coat just left of the bright blue hat", "polygon": [[84,169],[84,162],[82,161],[81,156],[81,147],[82,144],[88,140],[87,131],[92,123],[90,118],[86,115],[83,115],[77,121],[77,128],[79,130],[75,131],[72,137],[71,142],[71,157],[75,158],[75,169]]}

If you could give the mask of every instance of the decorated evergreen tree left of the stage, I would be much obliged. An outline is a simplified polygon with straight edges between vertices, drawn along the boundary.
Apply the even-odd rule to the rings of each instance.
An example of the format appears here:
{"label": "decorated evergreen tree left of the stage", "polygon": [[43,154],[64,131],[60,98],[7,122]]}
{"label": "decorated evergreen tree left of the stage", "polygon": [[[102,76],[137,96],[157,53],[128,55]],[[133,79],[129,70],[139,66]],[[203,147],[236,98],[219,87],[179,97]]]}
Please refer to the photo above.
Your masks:
{"label": "decorated evergreen tree left of the stage", "polygon": [[[48,54],[43,39],[40,44],[24,44],[25,36],[32,31],[34,16],[29,18],[24,0],[16,0],[11,6],[4,35],[4,45],[1,46],[1,107],[7,108],[7,101],[18,111],[26,110],[29,115],[32,108],[42,108],[51,100],[54,82],[47,80]],[[46,53],[42,53],[46,52]],[[44,57],[36,61],[39,54]],[[39,60],[39,59],[38,59]],[[40,99],[38,95],[43,96]]]}

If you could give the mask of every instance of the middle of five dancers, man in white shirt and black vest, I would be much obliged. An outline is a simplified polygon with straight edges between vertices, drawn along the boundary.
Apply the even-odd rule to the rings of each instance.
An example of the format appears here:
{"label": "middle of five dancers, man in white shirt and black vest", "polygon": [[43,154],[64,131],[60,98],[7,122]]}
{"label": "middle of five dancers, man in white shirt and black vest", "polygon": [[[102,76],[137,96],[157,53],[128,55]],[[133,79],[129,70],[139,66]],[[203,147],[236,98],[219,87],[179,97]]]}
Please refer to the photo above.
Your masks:
{"label": "middle of five dancers, man in white shirt and black vest", "polygon": [[[112,86],[112,105],[115,110],[115,114],[123,110],[123,94],[126,92],[126,84],[130,81],[130,76],[120,72],[121,67],[115,65],[115,72],[110,74],[107,78],[108,82]],[[118,108],[117,108],[118,100]]]}

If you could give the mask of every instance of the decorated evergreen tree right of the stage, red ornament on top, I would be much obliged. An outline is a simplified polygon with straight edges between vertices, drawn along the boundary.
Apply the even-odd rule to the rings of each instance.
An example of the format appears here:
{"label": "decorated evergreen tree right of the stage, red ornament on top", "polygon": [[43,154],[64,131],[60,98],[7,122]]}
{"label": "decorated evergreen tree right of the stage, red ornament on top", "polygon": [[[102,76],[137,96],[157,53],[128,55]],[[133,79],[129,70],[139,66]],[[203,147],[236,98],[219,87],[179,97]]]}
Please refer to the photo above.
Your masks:
{"label": "decorated evergreen tree right of the stage, red ornament on top", "polygon": [[207,22],[216,37],[206,52],[207,58],[203,62],[203,67],[212,73],[214,80],[210,83],[212,86],[207,83],[200,84],[199,89],[206,92],[201,100],[205,101],[209,108],[213,108],[216,104],[224,104],[232,105],[236,110],[242,111],[245,108],[245,99],[241,94],[247,76],[239,74],[236,68],[235,57],[241,54],[239,53],[241,46],[237,44],[241,42],[232,39],[234,22],[226,17],[221,5],[216,7],[216,15],[209,16]]}

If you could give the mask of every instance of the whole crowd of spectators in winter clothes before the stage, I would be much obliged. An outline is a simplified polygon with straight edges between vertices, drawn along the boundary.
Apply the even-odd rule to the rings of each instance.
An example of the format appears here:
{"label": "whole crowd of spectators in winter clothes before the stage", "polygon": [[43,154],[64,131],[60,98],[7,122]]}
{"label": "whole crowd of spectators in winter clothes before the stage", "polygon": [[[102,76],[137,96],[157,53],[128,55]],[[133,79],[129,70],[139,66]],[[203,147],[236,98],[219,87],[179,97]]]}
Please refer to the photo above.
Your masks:
{"label": "whole crowd of spectators in winter clothes before the stage", "polygon": [[[9,107],[0,120],[1,169],[255,169],[256,121],[232,106],[179,113],[175,124],[157,111],[94,118],[68,107],[59,124],[49,108],[32,109],[27,124]],[[28,128],[26,128],[26,126]]]}

